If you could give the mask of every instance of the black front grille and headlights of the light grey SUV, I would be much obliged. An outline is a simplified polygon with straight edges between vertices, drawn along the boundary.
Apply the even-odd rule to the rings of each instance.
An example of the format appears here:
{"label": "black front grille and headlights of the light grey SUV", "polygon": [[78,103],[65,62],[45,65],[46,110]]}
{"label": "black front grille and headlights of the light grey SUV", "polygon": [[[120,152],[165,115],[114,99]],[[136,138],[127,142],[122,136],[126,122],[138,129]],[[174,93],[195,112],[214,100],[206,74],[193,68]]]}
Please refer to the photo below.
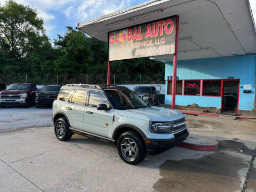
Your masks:
{"label": "black front grille and headlights of the light grey SUV", "polygon": [[174,122],[164,122],[164,123],[152,123],[150,127],[150,131],[153,133],[168,133],[175,130],[182,129],[185,127],[186,121],[183,119],[183,121],[175,123]]}

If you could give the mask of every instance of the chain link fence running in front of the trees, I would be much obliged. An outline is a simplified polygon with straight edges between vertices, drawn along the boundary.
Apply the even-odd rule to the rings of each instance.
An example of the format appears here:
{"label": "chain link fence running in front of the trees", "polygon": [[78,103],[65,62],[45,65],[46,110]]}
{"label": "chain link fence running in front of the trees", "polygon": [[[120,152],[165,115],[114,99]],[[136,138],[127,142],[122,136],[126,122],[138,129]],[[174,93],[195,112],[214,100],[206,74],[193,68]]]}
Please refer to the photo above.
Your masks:
{"label": "chain link fence running in front of the trees", "polygon": [[[0,74],[0,83],[35,83],[65,85],[68,83],[106,84],[107,74]],[[164,74],[111,74],[111,84],[164,84]]]}

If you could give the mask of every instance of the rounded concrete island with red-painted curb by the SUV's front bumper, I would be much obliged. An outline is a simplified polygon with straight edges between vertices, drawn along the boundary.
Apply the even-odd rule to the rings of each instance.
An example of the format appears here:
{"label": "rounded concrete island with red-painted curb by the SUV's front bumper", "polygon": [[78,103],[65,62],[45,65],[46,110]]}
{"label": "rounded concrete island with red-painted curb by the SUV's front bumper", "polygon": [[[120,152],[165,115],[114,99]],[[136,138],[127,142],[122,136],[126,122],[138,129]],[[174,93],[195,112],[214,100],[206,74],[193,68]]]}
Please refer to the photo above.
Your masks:
{"label": "rounded concrete island with red-painted curb by the SUV's front bumper", "polygon": [[178,146],[191,150],[212,151],[219,148],[219,142],[210,137],[189,135],[187,140],[183,141]]}

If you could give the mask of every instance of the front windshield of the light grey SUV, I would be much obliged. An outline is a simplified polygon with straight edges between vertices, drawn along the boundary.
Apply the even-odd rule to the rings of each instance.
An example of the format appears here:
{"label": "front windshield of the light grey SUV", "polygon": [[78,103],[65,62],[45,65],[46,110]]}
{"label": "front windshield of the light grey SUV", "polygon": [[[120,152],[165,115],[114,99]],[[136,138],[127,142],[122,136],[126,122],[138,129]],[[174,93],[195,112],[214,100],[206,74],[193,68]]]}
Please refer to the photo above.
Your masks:
{"label": "front windshield of the light grey SUV", "polygon": [[116,109],[124,110],[148,107],[147,104],[131,90],[106,89],[105,92]]}

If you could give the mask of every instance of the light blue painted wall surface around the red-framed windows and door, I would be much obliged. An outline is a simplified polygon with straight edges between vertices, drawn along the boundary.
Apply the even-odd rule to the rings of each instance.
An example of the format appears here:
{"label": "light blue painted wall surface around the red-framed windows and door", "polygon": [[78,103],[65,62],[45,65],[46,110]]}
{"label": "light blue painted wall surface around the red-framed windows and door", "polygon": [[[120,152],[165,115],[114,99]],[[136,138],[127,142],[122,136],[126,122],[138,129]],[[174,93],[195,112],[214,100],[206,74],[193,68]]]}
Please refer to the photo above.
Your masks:
{"label": "light blue painted wall surface around the red-framed windows and door", "polygon": [[[165,64],[165,79],[172,76],[172,61]],[[255,71],[256,71],[256,54],[209,58],[193,59],[178,61],[177,75],[180,80],[186,79],[228,79],[234,76],[240,79],[239,89],[239,110],[253,110],[255,97]],[[252,85],[252,93],[243,93],[244,85]],[[184,86],[184,85],[183,85]],[[242,88],[241,88],[242,86]],[[172,95],[167,95],[167,82],[165,83],[165,103],[171,104]],[[201,107],[221,108],[221,97],[204,97],[202,96],[202,81],[200,96],[177,95],[176,105],[187,106],[197,103]]]}

